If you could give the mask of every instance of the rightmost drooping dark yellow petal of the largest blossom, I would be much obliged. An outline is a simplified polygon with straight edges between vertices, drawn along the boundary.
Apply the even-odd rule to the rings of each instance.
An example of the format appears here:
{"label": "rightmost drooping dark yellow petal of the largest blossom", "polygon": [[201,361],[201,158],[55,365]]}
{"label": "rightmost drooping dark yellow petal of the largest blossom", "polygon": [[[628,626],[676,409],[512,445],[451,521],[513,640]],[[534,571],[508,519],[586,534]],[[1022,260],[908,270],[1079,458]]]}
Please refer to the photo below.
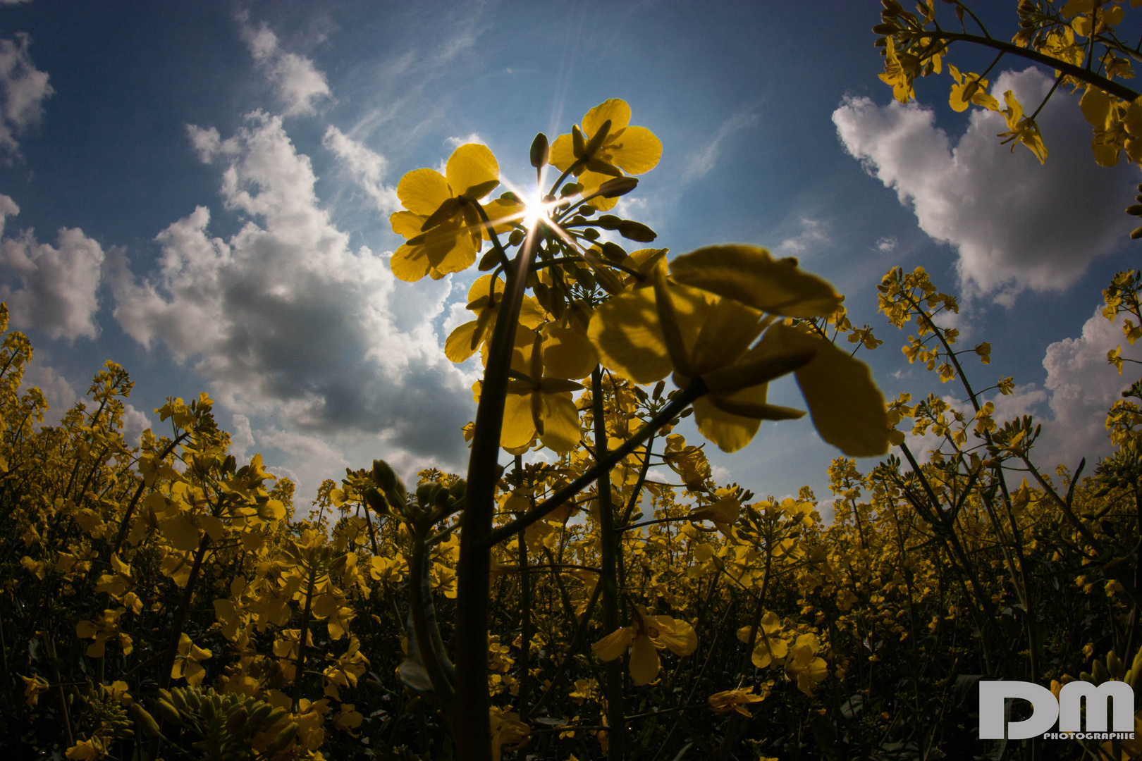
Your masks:
{"label": "rightmost drooping dark yellow petal of the largest blossom", "polygon": [[829,341],[796,327],[773,325],[766,339],[770,333],[774,333],[774,340],[782,348],[806,348],[817,353],[796,375],[821,438],[853,458],[885,454],[888,451],[888,416],[868,365]]}

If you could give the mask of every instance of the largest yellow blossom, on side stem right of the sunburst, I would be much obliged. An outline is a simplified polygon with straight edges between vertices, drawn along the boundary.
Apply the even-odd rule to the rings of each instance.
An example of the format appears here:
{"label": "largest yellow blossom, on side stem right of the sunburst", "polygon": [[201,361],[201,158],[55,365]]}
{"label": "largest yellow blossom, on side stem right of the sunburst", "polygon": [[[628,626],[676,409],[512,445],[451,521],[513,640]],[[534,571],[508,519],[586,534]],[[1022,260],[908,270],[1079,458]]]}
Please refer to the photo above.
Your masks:
{"label": "largest yellow blossom, on side stem right of the sunburst", "polygon": [[603,363],[636,383],[671,371],[678,387],[701,378],[709,394],[694,402],[694,420],[723,451],[746,446],[762,420],[804,414],[766,403],[769,381],[796,371],[826,442],[856,456],[887,452],[884,399],[868,367],[780,319],[829,316],[841,305],[833,286],[795,259],[709,246],[677,257],[669,275],[660,260],[653,285],[602,305],[588,334]]}

